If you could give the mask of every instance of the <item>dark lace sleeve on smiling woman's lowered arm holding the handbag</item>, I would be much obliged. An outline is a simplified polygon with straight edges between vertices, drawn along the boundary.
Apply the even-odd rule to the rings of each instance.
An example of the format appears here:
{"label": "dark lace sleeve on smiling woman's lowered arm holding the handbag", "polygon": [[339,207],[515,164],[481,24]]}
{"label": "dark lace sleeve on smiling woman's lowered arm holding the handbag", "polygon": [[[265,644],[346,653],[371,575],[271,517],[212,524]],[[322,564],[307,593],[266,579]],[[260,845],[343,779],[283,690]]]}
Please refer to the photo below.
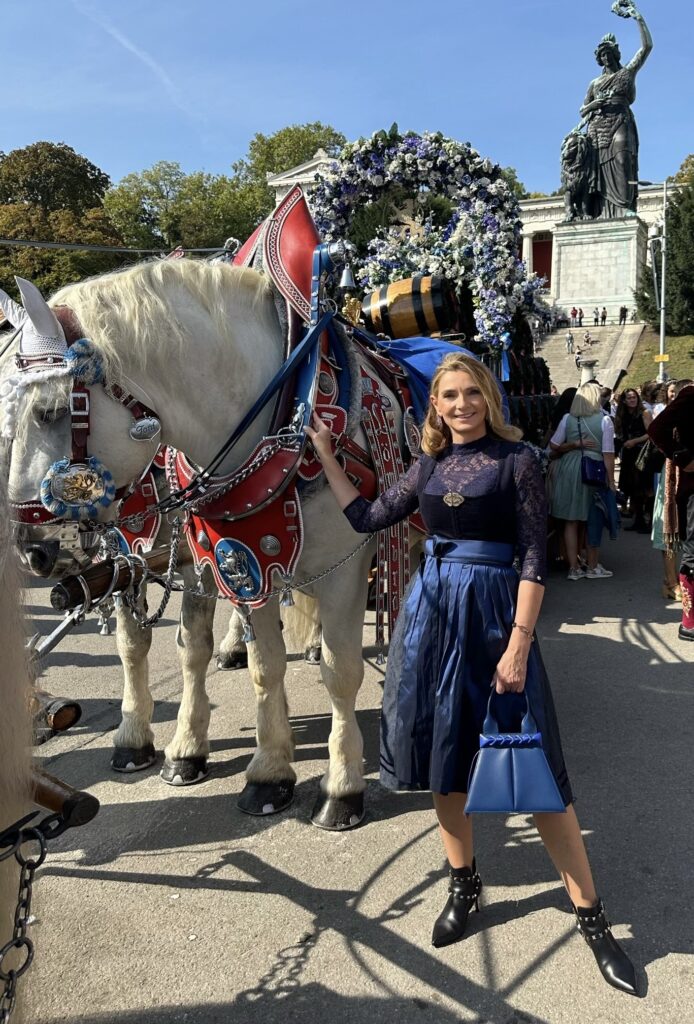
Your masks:
{"label": "dark lace sleeve on smiling woman's lowered arm holding the handbag", "polygon": [[547,573],[547,497],[537,460],[527,447],[516,453],[514,478],[521,580],[544,586]]}

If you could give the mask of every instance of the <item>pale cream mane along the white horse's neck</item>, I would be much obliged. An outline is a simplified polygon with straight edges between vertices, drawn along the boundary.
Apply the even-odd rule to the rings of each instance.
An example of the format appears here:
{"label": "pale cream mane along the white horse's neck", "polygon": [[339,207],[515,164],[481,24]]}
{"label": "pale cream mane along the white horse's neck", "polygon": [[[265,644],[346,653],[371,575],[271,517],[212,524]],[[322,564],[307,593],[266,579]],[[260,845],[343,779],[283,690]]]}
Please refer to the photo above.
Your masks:
{"label": "pale cream mane along the white horse's neck", "polygon": [[126,353],[131,366],[141,368],[164,345],[183,344],[186,335],[174,303],[181,291],[187,293],[191,306],[197,304],[211,317],[219,335],[230,338],[229,303],[233,302],[234,311],[261,315],[269,286],[255,270],[224,263],[150,260],[68,285],[56,292],[50,305],[70,306],[85,336],[97,345],[106,371],[116,371]]}

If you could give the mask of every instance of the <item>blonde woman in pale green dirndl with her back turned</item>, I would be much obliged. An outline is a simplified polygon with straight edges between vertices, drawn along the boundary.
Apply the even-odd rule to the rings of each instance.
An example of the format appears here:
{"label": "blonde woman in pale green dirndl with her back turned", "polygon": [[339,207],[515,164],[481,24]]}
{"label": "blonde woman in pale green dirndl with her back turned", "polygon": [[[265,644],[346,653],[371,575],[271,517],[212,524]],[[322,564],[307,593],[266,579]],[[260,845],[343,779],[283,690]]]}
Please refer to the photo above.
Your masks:
{"label": "blonde woman in pale green dirndl with her back turned", "polygon": [[[564,520],[568,579],[607,580],[612,572],[598,561],[600,530],[591,530],[593,536],[589,536],[588,567],[583,568],[578,561],[578,529],[591,517],[597,489],[582,481],[580,463],[583,456],[605,464],[605,490],[610,490],[612,496],[615,492],[614,426],[603,412],[599,384],[581,384],[569,412],[552,435],[550,446],[562,456],[554,472],[550,511],[556,519]],[[614,505],[613,498],[609,505]],[[616,518],[616,506],[614,509]]]}

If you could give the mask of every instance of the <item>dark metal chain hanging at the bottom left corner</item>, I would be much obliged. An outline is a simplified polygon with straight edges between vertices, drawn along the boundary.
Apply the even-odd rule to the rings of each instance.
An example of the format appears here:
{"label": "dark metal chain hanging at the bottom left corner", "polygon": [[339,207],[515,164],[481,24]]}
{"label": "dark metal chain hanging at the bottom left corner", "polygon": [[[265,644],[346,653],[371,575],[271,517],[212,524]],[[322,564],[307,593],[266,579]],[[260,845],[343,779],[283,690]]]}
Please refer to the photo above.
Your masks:
{"label": "dark metal chain hanging at the bottom left corner", "polygon": [[[38,856],[25,854],[25,847],[29,843],[38,844]],[[7,1024],[9,1021],[16,1002],[17,982],[34,959],[34,943],[27,935],[27,929],[31,918],[34,876],[46,858],[46,837],[39,828],[19,828],[11,846],[0,853],[0,860],[11,856],[19,864],[19,888],[12,938],[0,948],[0,981],[4,982],[0,992],[0,1024]],[[17,968],[5,969],[5,958],[12,950],[24,950],[24,962]]]}

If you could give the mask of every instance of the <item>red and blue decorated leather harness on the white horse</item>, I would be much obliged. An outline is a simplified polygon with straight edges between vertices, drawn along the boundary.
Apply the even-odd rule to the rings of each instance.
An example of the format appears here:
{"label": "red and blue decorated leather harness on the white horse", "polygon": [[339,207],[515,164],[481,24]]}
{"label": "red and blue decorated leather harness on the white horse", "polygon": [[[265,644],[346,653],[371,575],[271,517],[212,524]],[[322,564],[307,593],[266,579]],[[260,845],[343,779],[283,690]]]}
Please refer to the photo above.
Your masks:
{"label": "red and blue decorated leather harness on the white horse", "polygon": [[[302,585],[302,581],[294,580],[303,547],[301,497],[322,472],[303,429],[312,414],[317,413],[330,424],[337,458],[367,499],[393,483],[402,473],[405,459],[409,459],[403,457],[395,409],[382,383],[395,395],[402,413],[413,420],[407,378],[401,368],[372,347],[367,336],[351,325],[343,322],[342,332],[338,330],[340,317],[326,302],[323,286],[336,264],[344,261],[345,247],[342,243],[319,244],[301,189],[293,189],[261,226],[263,229],[249,240],[233,263],[249,265],[262,247],[263,269],[287,302],[288,350],[278,373],[210,464],[201,469],[182,453],[168,450],[167,498],[157,500],[150,469],[135,485],[117,494],[111,472],[87,451],[90,386],[100,384],[111,398],[131,412],[133,439],[156,438],[161,429],[159,417],[121,385],[103,379],[98,353],[90,341],[81,337],[72,310],[58,308],[55,312],[68,342],[66,371],[72,378],[71,456],[51,466],[41,484],[40,501],[10,507],[14,522],[38,527],[41,539],[59,539],[61,548],[70,548],[79,564],[90,558],[83,550],[85,534],[93,539],[116,528],[122,548],[144,551],[154,541],[161,517],[180,513],[197,572],[202,575],[209,566],[219,593],[244,613],[247,622],[253,608],[265,604],[277,592],[273,589],[275,573],[284,603],[291,603],[291,590]],[[308,275],[311,248],[313,259]],[[350,343],[362,355],[357,386],[361,389],[360,420],[368,451],[347,434],[352,380],[343,343],[345,334],[351,335]],[[47,366],[41,356],[20,355],[17,362],[20,372],[28,375]],[[268,435],[232,473],[216,475],[236,440],[271,400],[275,404]],[[413,454],[415,446],[410,444]],[[154,501],[148,502],[149,496]],[[116,500],[121,502],[116,523],[99,523],[99,510]],[[408,579],[406,535],[404,523],[379,539],[377,621],[381,642],[386,603],[392,629]],[[252,638],[252,630],[247,632],[247,639]]]}

